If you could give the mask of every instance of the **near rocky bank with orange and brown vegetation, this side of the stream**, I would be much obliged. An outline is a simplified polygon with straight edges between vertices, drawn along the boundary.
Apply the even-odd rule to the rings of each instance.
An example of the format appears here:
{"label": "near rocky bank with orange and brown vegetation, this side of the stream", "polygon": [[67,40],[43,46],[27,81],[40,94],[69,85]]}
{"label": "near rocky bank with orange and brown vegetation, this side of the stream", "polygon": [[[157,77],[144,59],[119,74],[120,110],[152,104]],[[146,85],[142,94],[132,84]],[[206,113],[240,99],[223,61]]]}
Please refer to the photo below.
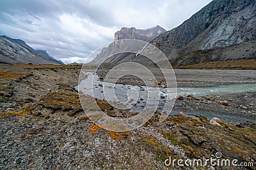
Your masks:
{"label": "near rocky bank with orange and brown vegetation, this side of the stream", "polygon": [[[255,166],[255,122],[231,124],[184,114],[218,111],[255,119],[255,93],[183,96],[174,106],[179,113],[163,123],[156,112],[139,129],[111,132],[93,124],[81,108],[74,89],[80,68],[0,65],[1,169],[230,169],[164,165],[169,157],[205,160],[216,152]],[[136,114],[97,103],[112,117]]]}

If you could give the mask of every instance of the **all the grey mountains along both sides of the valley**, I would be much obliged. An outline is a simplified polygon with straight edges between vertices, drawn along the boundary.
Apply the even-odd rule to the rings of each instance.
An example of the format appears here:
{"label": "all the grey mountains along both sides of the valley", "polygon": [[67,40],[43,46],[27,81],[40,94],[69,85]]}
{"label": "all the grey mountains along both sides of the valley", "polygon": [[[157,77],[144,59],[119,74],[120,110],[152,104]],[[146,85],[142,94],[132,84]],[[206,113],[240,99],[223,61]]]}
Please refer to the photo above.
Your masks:
{"label": "all the grey mountains along both sides of the valley", "polygon": [[[170,31],[159,25],[150,29],[123,27],[115,32],[115,40],[147,41],[159,48],[174,67],[215,61],[255,60],[255,9],[255,0],[214,0]],[[136,53],[115,55],[121,47],[124,48],[120,43],[111,43],[88,64],[98,66],[104,61],[106,66],[113,67],[122,62],[134,61],[154,66],[150,60]],[[136,50],[142,48],[145,50],[147,46]],[[0,50],[0,63],[63,64],[45,50],[34,50],[21,39],[0,36]]]}

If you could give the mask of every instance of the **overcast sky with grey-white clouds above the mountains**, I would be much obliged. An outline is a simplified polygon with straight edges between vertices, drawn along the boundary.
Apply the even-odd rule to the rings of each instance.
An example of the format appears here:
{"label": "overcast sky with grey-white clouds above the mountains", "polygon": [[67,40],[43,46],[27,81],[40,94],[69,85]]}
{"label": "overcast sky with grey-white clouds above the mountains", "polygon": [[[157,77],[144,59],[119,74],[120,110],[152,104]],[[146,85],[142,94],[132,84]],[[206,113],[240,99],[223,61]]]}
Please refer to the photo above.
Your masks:
{"label": "overcast sky with grey-white clouds above the mountains", "polygon": [[19,38],[65,63],[85,62],[122,27],[166,30],[211,0],[0,0],[0,34]]}

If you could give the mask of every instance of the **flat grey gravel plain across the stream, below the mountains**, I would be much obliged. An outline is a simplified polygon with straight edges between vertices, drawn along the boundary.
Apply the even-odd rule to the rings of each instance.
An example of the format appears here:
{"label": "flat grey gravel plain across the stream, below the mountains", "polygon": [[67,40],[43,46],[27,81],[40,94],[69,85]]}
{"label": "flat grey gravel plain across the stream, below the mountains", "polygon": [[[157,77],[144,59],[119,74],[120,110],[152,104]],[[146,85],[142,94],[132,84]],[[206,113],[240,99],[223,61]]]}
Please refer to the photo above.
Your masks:
{"label": "flat grey gravel plain across the stream, below the mountains", "polygon": [[[108,71],[108,69],[97,70],[101,80],[104,80]],[[156,80],[161,81],[164,85],[166,85],[166,79],[163,73],[166,74],[168,79],[177,81],[177,87],[212,87],[218,85],[256,83],[255,70],[174,69],[175,77],[170,69],[163,69],[163,73],[156,68],[150,68],[150,71],[156,76]],[[115,83],[115,77],[120,77],[118,83],[131,85],[145,85],[143,81],[154,80],[154,78],[151,78],[152,80],[148,79],[148,74],[143,69],[130,70],[127,76],[124,76],[124,74],[127,74],[126,69],[118,69],[118,71],[112,73],[115,74],[108,77],[108,81],[111,83]],[[136,75],[138,73],[140,73],[140,78],[132,76],[132,74]],[[157,85],[157,82],[154,82],[152,85]]]}

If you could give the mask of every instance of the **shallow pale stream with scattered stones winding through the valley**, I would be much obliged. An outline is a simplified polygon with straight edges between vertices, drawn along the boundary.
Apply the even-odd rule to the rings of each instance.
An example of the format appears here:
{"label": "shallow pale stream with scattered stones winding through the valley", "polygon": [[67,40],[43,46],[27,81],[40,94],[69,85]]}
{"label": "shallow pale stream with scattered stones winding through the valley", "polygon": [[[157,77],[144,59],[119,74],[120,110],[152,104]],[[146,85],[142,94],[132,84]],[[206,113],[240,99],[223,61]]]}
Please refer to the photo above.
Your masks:
{"label": "shallow pale stream with scattered stones winding through the valley", "polygon": [[[177,95],[186,96],[188,94],[193,94],[193,96],[207,96],[216,94],[256,92],[255,83],[221,85],[218,87],[179,87],[177,89],[163,89],[161,87],[140,87],[138,85],[114,84],[100,81],[99,76],[95,73],[86,74],[88,78],[82,80],[76,89],[97,99],[105,99],[116,108],[136,111],[142,111],[147,108],[153,108],[158,111],[172,110],[172,106],[174,104],[173,99]],[[170,114],[173,115],[174,113],[179,113],[179,111],[172,111]],[[220,115],[214,112],[199,110],[187,111],[186,114],[204,115],[209,119],[212,117],[219,117],[227,122],[245,122],[250,120],[234,115]]]}

